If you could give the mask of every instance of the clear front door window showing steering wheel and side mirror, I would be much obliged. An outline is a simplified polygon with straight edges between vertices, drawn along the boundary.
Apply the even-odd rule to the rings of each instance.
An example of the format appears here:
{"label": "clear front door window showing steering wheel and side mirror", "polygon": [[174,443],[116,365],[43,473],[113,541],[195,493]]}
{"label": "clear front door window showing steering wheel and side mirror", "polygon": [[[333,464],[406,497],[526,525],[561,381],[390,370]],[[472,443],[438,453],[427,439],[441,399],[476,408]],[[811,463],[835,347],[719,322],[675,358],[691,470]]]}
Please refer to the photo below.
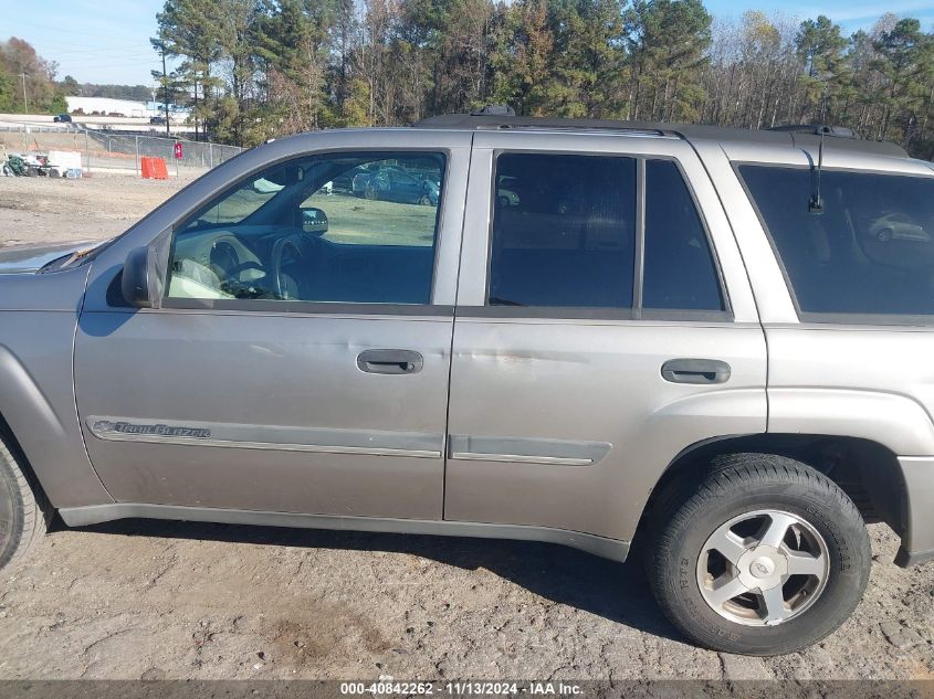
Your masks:
{"label": "clear front door window showing steering wheel and side mirror", "polygon": [[339,152],[262,170],[176,231],[167,297],[429,304],[444,163]]}

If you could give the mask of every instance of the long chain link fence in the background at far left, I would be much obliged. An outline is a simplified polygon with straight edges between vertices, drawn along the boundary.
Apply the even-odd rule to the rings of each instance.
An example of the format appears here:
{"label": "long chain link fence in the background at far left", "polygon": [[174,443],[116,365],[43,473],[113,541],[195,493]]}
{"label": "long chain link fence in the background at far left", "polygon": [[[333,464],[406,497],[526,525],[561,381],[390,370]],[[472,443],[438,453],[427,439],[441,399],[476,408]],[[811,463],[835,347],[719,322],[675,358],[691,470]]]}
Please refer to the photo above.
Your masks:
{"label": "long chain link fence in the background at far left", "polygon": [[[0,142],[8,153],[48,155],[51,151],[80,152],[85,174],[115,172],[140,174],[140,159],[165,158],[170,177],[193,178],[229,160],[243,149],[182,138],[165,138],[97,131],[77,127],[0,126]],[[182,157],[175,157],[181,144]]]}

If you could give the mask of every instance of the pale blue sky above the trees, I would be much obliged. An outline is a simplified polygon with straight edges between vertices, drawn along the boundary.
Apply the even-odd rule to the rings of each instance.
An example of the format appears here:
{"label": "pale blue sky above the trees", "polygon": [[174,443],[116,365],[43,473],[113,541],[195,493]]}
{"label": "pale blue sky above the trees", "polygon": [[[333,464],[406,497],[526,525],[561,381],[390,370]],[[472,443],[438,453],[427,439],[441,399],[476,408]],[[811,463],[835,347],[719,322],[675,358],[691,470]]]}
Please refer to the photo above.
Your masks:
{"label": "pale blue sky above the trees", "polygon": [[[0,40],[20,36],[40,55],[57,61],[59,76],[78,82],[151,84],[161,62],[149,46],[162,0],[0,0]],[[793,17],[827,14],[847,33],[870,27],[885,12],[916,17],[934,27],[934,0],[706,0],[712,14],[738,18],[748,9]]]}

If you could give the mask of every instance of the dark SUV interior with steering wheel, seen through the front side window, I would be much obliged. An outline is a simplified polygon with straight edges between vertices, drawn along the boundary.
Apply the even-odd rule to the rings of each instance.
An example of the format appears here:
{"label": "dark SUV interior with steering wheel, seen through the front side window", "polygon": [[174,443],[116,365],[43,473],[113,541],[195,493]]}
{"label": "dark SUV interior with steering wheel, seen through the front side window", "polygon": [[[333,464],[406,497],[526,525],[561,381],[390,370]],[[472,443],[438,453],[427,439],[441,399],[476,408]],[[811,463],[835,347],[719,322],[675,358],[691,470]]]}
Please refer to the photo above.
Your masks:
{"label": "dark SUV interior with steering wheel, seen through the front side window", "polygon": [[[385,160],[386,153],[379,158]],[[443,157],[429,155],[428,158],[438,169],[440,180]],[[392,223],[393,212],[399,212],[397,218],[405,221],[400,218],[405,216],[405,209],[417,204],[357,201],[351,200],[351,192],[335,191],[326,198],[324,194],[313,198],[315,203],[333,203],[338,211],[330,216],[332,227],[335,220],[348,219],[349,214],[342,212],[351,211],[355,220],[360,220],[361,215],[366,218],[367,208],[374,208],[366,221],[371,230],[366,231],[360,242],[353,240],[354,231],[349,235],[345,230],[344,235],[330,236],[324,209],[312,210],[313,225],[308,230],[308,209],[304,202],[326,183],[340,181],[343,173],[371,160],[308,158],[263,172],[252,182],[222,194],[177,233],[172,243],[169,297],[429,303],[437,211],[434,215],[429,211],[427,220],[431,230],[400,233],[399,226]],[[419,155],[419,160],[423,166],[426,156]],[[393,161],[399,162],[400,158]],[[332,190],[333,184],[327,188]],[[245,215],[238,215],[244,210]],[[408,244],[413,241],[417,244]]]}

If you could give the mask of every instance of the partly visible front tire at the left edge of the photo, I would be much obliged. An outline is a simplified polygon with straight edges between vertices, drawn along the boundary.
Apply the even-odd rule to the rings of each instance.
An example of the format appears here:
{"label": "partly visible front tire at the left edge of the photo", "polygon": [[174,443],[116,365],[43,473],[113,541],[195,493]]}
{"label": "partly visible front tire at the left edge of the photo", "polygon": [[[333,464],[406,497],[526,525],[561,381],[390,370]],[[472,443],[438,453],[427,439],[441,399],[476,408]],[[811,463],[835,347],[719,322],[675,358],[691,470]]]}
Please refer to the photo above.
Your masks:
{"label": "partly visible front tire at the left edge of the photo", "polygon": [[43,505],[23,475],[19,459],[0,439],[0,570],[19,563],[45,533]]}

